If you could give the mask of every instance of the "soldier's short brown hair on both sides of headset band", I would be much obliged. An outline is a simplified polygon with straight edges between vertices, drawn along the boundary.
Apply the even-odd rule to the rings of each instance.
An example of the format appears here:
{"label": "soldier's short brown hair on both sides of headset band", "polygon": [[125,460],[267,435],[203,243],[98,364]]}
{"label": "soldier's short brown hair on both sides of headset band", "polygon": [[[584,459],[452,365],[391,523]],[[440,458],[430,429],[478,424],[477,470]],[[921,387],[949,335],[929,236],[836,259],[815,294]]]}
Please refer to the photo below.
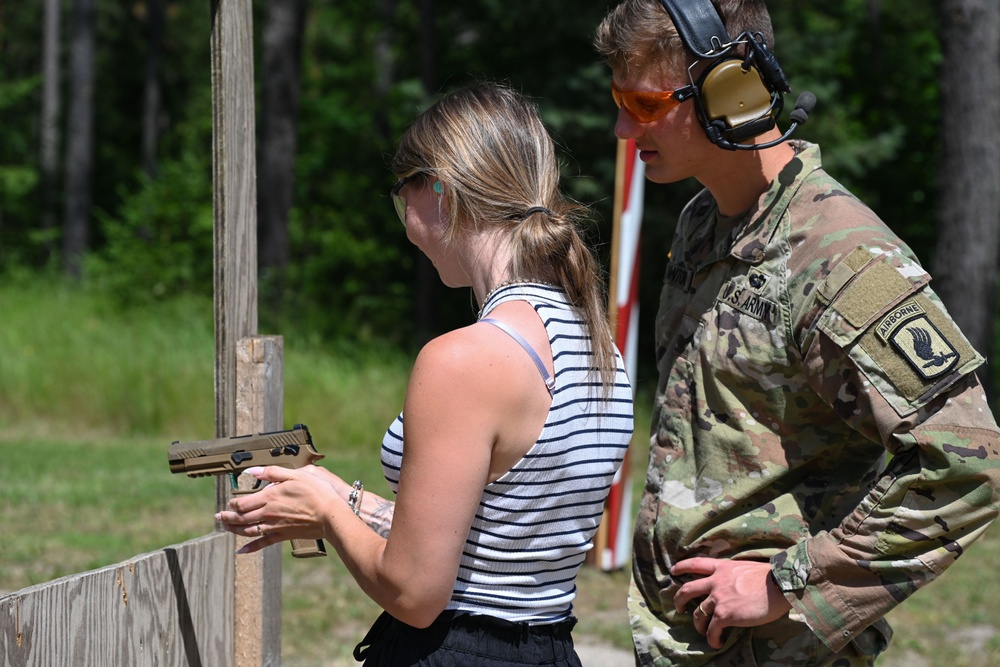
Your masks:
{"label": "soldier's short brown hair on both sides of headset band", "polygon": [[[774,30],[763,0],[712,0],[712,4],[730,38],[747,31],[760,33],[773,50]],[[679,74],[694,62],[660,0],[623,0],[597,27],[594,48],[612,73],[622,76],[654,65]]]}

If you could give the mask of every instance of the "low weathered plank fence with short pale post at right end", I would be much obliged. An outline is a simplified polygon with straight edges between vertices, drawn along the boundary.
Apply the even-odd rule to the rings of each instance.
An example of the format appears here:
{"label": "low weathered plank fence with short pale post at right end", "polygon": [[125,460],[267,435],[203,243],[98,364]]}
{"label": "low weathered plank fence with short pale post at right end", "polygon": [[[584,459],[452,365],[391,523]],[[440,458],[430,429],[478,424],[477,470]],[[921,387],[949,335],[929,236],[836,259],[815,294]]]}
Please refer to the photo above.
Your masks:
{"label": "low weathered plank fence with short pale post at right end", "polygon": [[[237,342],[238,432],[281,428],[283,358],[280,336]],[[0,597],[0,665],[280,665],[283,547],[235,556],[247,541],[215,533]]]}

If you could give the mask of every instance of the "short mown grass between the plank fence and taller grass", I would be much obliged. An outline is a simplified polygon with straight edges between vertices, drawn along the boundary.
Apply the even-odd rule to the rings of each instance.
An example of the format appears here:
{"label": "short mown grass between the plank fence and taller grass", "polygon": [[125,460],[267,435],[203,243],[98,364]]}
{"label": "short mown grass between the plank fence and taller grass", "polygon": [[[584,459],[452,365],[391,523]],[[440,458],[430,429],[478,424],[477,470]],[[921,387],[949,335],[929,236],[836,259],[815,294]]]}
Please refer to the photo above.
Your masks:
{"label": "short mown grass between the plank fence and taller grass", "polygon": [[148,438],[0,438],[6,527],[0,592],[210,532],[213,487],[208,480],[170,475],[167,444]]}

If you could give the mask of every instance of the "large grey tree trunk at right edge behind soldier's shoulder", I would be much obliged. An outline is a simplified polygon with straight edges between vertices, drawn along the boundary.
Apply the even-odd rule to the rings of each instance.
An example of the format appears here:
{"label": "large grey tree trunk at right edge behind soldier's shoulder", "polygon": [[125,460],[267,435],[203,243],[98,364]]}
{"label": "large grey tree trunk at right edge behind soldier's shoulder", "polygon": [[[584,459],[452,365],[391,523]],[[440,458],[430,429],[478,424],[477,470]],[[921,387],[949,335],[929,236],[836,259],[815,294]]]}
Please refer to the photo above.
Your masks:
{"label": "large grey tree trunk at right edge behind soldier's shoulder", "polygon": [[[943,0],[941,203],[935,289],[994,358],[1000,255],[1000,4]],[[989,367],[980,379],[995,400]]]}

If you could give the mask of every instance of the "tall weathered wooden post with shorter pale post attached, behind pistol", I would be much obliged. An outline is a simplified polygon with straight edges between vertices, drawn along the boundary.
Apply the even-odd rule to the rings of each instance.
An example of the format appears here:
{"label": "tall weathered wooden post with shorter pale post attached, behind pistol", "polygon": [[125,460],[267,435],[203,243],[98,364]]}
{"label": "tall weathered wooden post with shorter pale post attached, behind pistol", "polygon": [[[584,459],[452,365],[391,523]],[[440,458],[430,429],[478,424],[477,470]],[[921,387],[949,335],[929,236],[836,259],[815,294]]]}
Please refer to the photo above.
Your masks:
{"label": "tall weathered wooden post with shorter pale post attached, behind pistol", "polygon": [[[282,426],[280,339],[252,338],[257,334],[257,162],[251,0],[212,0],[211,53],[215,431],[226,437]],[[248,340],[241,346],[243,339]],[[276,385],[270,382],[275,376]],[[228,482],[220,479],[220,509],[229,496]],[[281,552],[266,552],[236,557],[238,667],[281,662]]]}

